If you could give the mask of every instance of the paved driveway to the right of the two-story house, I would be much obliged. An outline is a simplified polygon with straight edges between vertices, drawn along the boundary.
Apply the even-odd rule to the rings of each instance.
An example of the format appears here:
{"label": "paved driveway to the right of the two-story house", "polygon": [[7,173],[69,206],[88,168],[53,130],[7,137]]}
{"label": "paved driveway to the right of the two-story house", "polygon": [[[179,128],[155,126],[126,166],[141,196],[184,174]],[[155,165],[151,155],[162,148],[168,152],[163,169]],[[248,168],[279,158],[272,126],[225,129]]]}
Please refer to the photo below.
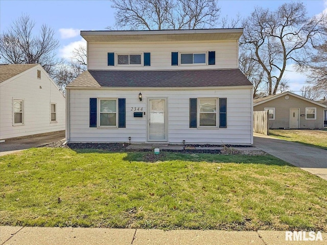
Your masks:
{"label": "paved driveway to the right of the two-story house", "polygon": [[253,133],[253,146],[327,180],[327,151]]}

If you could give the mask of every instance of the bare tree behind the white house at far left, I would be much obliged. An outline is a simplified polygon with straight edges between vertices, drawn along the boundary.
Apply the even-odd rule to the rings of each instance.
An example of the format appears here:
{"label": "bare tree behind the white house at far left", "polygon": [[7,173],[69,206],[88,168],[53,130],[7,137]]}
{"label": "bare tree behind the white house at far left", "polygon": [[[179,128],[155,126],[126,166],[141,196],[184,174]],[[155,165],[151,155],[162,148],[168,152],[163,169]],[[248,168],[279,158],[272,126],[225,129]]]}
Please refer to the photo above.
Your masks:
{"label": "bare tree behind the white house at far left", "polygon": [[0,36],[0,57],[2,62],[11,64],[40,64],[54,75],[55,66],[62,62],[56,58],[59,41],[54,30],[45,24],[39,35],[34,35],[35,22],[28,15],[14,21],[9,30]]}

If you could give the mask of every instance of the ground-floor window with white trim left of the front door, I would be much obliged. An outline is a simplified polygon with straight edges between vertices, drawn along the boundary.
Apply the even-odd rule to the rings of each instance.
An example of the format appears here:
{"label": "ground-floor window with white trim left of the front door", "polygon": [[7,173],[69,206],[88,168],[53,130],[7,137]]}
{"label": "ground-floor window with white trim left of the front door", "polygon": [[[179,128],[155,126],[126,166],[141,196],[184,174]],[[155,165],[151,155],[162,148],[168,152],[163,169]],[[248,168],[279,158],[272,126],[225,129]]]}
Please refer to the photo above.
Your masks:
{"label": "ground-floor window with white trim left of the front door", "polygon": [[99,127],[117,127],[117,99],[99,99]]}

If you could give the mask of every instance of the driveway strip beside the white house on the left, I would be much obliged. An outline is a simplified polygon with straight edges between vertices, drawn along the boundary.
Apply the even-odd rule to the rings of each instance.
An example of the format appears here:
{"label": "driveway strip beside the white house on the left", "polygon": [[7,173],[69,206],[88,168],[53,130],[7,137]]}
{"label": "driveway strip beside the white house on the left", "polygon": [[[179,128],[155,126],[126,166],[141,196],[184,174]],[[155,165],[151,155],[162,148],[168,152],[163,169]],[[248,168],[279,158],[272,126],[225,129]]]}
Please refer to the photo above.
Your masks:
{"label": "driveway strip beside the white house on the left", "polygon": [[45,134],[38,134],[27,136],[24,138],[16,138],[6,140],[4,143],[0,143],[0,156],[19,152],[22,150],[30,149],[33,147],[39,147],[45,144],[50,144],[65,138],[65,131],[56,131]]}

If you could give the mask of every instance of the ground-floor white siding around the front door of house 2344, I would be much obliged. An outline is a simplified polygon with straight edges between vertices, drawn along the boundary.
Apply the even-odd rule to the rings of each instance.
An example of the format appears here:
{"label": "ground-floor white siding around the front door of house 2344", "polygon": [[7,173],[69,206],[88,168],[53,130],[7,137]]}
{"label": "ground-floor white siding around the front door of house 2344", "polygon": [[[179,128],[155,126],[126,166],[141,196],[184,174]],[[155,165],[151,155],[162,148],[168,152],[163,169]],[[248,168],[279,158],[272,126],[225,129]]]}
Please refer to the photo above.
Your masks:
{"label": "ground-floor white siding around the front door of house 2344", "polygon": [[[169,143],[251,144],[251,88],[235,89],[69,89],[70,142],[147,142],[148,98],[167,99],[167,140]],[[112,130],[89,127],[89,98],[119,97],[126,99],[126,128]],[[227,98],[228,128],[190,128],[190,98]],[[131,108],[142,108],[146,114],[134,117]],[[98,117],[99,120],[99,117]],[[218,122],[217,122],[218,123]]]}

